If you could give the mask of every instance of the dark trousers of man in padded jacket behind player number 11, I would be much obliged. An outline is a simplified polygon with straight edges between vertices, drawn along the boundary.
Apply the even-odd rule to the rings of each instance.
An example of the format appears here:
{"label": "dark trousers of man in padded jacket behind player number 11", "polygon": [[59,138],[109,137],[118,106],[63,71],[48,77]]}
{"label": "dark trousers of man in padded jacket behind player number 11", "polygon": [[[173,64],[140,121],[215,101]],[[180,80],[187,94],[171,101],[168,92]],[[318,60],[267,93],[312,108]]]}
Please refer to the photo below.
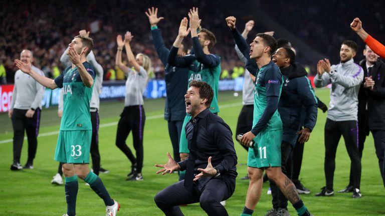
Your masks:
{"label": "dark trousers of man in padded jacket behind player number 11", "polygon": [[[290,176],[290,173],[287,172],[287,160],[290,156],[290,153],[293,149],[293,146],[289,142],[282,141],[281,143],[281,169],[282,172],[286,176]],[[277,184],[275,184],[274,181],[270,180],[270,188],[271,188],[271,195],[273,196],[273,208],[278,209],[278,208],[287,208],[287,198],[285,195],[282,193],[282,191],[279,189]]]}

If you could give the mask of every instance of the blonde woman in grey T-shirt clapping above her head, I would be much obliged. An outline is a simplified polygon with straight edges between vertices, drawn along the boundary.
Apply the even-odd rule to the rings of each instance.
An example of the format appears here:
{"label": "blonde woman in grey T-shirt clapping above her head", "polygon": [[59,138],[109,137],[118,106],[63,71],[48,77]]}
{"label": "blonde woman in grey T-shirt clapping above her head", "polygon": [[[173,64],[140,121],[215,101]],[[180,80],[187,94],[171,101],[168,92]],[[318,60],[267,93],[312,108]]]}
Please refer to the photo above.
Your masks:
{"label": "blonde woman in grey T-shirt clapping above her head", "polygon": [[[120,114],[118,129],[116,131],[116,146],[118,146],[131,161],[131,172],[128,173],[126,180],[143,180],[141,173],[143,167],[143,129],[146,119],[143,108],[143,92],[147,85],[151,59],[142,53],[134,57],[130,46],[132,38],[133,35],[131,35],[129,31],[124,35],[124,40],[122,40],[121,35],[116,37],[118,50],[116,52],[115,63],[127,74],[124,109]],[[126,48],[128,64],[133,67],[133,69],[130,69],[122,63],[123,46]],[[126,144],[127,136],[131,130],[136,157]]]}

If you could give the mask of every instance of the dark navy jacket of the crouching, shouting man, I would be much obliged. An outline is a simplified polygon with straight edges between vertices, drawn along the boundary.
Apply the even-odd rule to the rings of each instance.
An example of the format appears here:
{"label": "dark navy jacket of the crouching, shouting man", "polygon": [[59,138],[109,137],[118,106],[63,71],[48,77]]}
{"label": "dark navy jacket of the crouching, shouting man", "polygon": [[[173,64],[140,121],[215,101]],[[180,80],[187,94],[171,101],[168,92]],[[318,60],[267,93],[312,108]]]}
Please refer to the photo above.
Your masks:
{"label": "dark navy jacket of the crouching, shouting man", "polygon": [[[188,149],[190,149],[193,139],[194,125],[192,122],[194,120],[198,124],[195,173],[200,173],[198,168],[206,168],[208,159],[212,156],[211,163],[213,167],[220,170],[221,176],[235,179],[238,175],[236,167],[238,158],[229,125],[221,117],[210,112],[209,108],[203,110],[195,118],[191,118],[185,126]],[[185,170],[187,159],[178,164],[180,170]],[[201,179],[207,182],[210,177],[203,177],[199,180],[201,181]],[[200,184],[202,183],[200,182]]]}

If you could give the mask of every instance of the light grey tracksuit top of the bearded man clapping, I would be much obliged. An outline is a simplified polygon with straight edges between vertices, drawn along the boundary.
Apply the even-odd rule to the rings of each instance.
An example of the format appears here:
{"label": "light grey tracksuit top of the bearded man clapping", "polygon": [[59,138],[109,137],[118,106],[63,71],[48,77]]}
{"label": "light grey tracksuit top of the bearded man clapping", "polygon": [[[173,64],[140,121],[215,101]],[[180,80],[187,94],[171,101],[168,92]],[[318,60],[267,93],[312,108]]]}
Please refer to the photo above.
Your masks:
{"label": "light grey tracksuit top of the bearded man clapping", "polygon": [[334,121],[357,120],[358,90],[363,79],[361,66],[353,58],[332,65],[329,73],[314,77],[316,87],[331,83],[330,103],[327,118]]}

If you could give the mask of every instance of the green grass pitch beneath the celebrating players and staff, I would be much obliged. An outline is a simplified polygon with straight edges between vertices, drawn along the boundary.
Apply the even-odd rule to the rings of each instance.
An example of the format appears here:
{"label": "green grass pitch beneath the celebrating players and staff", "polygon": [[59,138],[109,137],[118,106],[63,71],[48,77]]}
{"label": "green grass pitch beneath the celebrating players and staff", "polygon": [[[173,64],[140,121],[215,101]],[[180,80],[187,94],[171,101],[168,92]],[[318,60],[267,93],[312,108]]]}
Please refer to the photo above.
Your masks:
{"label": "green grass pitch beneath the celebrating players and staff", "polygon": [[[317,95],[325,102],[329,101],[328,89],[317,89]],[[220,92],[220,116],[235,131],[238,114],[242,104],[241,95],[234,97],[232,92]],[[116,124],[103,126],[99,130],[100,153],[103,167],[110,170],[108,174],[100,174],[111,196],[121,204],[118,215],[163,215],[156,207],[153,197],[157,191],[177,180],[176,174],[157,176],[155,163],[166,162],[166,152],[172,151],[168,137],[167,123],[160,115],[163,113],[164,99],[146,100],[147,120],[144,129],[144,181],[125,181],[130,170],[130,162],[115,146]],[[101,124],[116,122],[123,109],[123,102],[107,102],[101,104]],[[56,131],[59,118],[56,109],[45,109],[42,112],[40,134]],[[153,116],[153,117],[151,117]],[[317,125],[310,141],[305,144],[303,165],[300,174],[302,183],[311,190],[309,195],[302,195],[305,205],[314,215],[384,215],[382,208],[384,188],[379,175],[378,161],[371,135],[367,137],[362,156],[361,191],[362,198],[352,199],[351,194],[335,193],[332,197],[315,197],[325,185],[324,132],[326,113],[318,114]],[[11,139],[12,124],[6,113],[0,114],[0,141]],[[57,135],[39,137],[38,152],[34,162],[35,169],[11,171],[12,143],[0,143],[0,215],[62,215],[66,211],[64,186],[50,184],[57,171],[58,163],[54,161]],[[127,139],[132,147],[132,136]],[[235,143],[238,154],[239,178],[246,175],[247,153]],[[22,153],[22,163],[27,159],[27,142]],[[348,183],[348,158],[343,141],[339,143],[334,189],[338,190]],[[243,209],[248,181],[237,178],[236,191],[227,201],[226,209],[230,215],[239,215]],[[267,195],[268,184],[263,186],[263,193],[254,215],[263,215],[271,208],[271,195]],[[185,215],[205,215],[199,204],[191,204],[181,208]],[[77,215],[103,215],[103,201],[80,181],[77,199]],[[296,215],[289,204],[291,215]]]}

